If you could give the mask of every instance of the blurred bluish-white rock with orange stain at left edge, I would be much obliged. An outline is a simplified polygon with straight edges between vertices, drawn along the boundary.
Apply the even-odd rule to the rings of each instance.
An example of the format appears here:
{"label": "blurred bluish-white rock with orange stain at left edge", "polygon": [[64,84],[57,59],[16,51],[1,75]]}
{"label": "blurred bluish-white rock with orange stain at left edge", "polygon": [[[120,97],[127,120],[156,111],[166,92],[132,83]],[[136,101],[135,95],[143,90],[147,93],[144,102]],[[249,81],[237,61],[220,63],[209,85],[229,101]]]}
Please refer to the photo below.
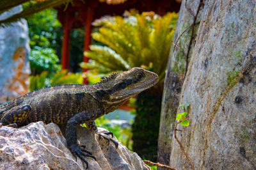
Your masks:
{"label": "blurred bluish-white rock with orange stain at left edge", "polygon": [[[0,15],[0,20],[19,13],[17,6]],[[12,26],[0,27],[0,104],[28,93],[30,52],[28,25],[21,19]]]}

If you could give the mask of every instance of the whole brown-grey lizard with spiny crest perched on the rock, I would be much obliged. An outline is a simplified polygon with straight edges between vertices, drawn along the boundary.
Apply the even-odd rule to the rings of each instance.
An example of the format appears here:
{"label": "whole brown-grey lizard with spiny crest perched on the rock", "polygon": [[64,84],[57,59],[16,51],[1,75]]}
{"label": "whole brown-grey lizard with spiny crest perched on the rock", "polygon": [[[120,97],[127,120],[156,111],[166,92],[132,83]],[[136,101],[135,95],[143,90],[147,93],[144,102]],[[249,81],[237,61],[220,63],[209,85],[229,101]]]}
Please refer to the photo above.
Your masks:
{"label": "whole brown-grey lizard with spiny crest perched on the rock", "polygon": [[95,120],[104,114],[115,111],[129,98],[157,84],[158,75],[143,68],[113,73],[102,81],[93,84],[65,84],[38,89],[23,95],[0,107],[0,124],[20,127],[36,121],[66,124],[67,146],[77,160],[79,157],[96,158],[92,153],[77,144],[76,126],[82,123],[100,137],[111,139],[112,132],[97,133]]}

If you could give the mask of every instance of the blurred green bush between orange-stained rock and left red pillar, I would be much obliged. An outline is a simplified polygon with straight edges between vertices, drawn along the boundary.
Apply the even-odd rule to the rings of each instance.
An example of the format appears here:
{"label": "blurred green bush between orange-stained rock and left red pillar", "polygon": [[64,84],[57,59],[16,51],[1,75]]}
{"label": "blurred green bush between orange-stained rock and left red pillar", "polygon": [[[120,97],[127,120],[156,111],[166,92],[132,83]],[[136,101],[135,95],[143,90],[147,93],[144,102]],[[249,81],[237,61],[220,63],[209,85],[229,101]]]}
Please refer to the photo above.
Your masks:
{"label": "blurred green bush between orange-stained rock and left red pillar", "polygon": [[48,71],[51,75],[61,68],[56,51],[61,51],[62,28],[56,18],[56,10],[48,9],[27,19],[31,47],[29,61],[33,75],[43,71]]}

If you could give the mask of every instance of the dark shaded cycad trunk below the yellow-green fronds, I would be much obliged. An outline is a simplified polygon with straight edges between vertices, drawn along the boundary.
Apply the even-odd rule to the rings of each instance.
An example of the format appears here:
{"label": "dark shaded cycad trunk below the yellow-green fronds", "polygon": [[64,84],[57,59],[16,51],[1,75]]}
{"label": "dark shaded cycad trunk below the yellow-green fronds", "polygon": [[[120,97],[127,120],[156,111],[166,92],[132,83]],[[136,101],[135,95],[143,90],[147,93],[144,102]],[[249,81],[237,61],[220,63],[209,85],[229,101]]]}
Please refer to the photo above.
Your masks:
{"label": "dark shaded cycad trunk below the yellow-green fronds", "polygon": [[141,92],[136,98],[136,117],[132,124],[132,149],[141,158],[156,162],[157,139],[163,86]]}

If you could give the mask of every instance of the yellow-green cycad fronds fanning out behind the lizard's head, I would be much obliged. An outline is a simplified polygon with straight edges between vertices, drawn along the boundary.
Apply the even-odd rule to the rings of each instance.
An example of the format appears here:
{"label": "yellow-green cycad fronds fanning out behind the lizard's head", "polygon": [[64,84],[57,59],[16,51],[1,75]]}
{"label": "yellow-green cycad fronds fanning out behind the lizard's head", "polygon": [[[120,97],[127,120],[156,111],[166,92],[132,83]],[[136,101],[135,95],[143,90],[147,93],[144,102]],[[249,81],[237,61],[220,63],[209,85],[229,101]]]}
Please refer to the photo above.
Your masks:
{"label": "yellow-green cycad fronds fanning out behind the lizard's head", "polygon": [[177,17],[177,13],[159,17],[144,12],[96,20],[93,24],[100,28],[92,37],[104,45],[91,45],[84,52],[90,63],[81,67],[106,74],[140,66],[157,73],[163,82]]}

